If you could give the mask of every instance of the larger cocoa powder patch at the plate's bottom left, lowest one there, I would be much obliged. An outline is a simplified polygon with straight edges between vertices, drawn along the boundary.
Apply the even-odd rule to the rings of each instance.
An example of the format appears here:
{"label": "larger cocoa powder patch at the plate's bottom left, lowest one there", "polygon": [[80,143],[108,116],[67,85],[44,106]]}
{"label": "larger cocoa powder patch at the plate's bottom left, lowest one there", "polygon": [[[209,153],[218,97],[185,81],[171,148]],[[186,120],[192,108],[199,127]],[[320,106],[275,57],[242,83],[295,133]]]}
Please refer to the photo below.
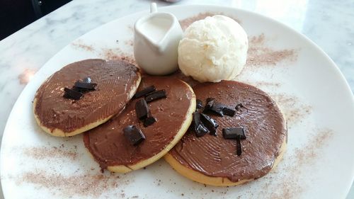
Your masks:
{"label": "larger cocoa powder patch at the plate's bottom left, lowest one there", "polygon": [[47,188],[48,191],[59,193],[63,197],[72,195],[91,196],[98,198],[103,193],[116,190],[125,183],[122,178],[116,176],[104,176],[103,174],[81,174],[63,176],[62,174],[47,174],[45,171],[25,172],[17,183],[32,183],[38,188]]}

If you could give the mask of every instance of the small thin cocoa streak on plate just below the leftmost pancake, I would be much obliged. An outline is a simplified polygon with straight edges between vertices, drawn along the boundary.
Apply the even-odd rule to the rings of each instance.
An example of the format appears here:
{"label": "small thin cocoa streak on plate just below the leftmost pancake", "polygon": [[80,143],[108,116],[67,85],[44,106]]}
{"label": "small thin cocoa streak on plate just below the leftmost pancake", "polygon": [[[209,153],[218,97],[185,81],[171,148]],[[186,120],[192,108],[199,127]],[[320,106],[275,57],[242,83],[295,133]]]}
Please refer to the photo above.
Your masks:
{"label": "small thin cocoa streak on plate just below the leftmost pancake", "polygon": [[48,159],[48,158],[68,158],[76,159],[76,149],[59,149],[58,147],[30,147],[23,149],[23,153],[28,157],[34,159]]}

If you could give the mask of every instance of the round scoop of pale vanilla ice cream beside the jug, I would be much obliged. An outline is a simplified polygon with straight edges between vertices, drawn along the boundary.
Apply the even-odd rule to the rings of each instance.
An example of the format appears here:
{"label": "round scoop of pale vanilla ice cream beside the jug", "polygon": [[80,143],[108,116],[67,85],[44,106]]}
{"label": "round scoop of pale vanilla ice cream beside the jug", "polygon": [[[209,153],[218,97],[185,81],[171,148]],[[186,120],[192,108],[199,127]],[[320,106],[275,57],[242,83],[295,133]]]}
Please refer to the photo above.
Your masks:
{"label": "round scoop of pale vanilla ice cream beside the jug", "polygon": [[178,45],[178,65],[200,82],[234,79],[246,64],[249,41],[232,18],[216,15],[195,21]]}

